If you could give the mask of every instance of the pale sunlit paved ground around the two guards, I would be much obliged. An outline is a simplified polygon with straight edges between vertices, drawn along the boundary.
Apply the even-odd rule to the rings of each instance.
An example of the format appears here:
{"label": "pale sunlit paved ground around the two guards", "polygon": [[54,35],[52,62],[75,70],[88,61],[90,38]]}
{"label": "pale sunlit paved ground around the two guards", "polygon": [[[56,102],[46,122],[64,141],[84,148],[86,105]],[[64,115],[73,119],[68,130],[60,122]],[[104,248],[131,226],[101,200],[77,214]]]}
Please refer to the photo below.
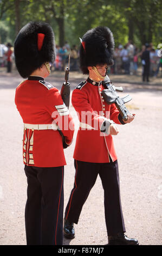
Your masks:
{"label": "pale sunlit paved ground around the two guards", "polygon": [[[16,73],[0,72],[0,245],[25,245],[24,206],[27,181],[22,163],[23,125],[14,104],[15,88],[22,81]],[[72,90],[82,75],[70,75]],[[112,78],[112,77],[111,77]],[[115,78],[115,77],[114,77]],[[116,78],[117,79],[117,78]],[[129,78],[128,82],[133,82]],[[113,80],[113,78],[112,78]],[[61,88],[63,77],[52,74],[48,80]],[[55,82],[53,82],[55,81]],[[133,123],[119,126],[114,136],[120,169],[121,202],[127,235],[136,237],[141,245],[161,245],[162,202],[162,85],[119,83],[133,100],[127,107],[136,114]],[[76,127],[77,118],[70,105]],[[67,159],[64,176],[64,207],[74,183],[74,142],[64,150]],[[103,189],[98,178],[75,225],[76,238],[64,239],[64,245],[105,245],[107,233],[103,209]]]}

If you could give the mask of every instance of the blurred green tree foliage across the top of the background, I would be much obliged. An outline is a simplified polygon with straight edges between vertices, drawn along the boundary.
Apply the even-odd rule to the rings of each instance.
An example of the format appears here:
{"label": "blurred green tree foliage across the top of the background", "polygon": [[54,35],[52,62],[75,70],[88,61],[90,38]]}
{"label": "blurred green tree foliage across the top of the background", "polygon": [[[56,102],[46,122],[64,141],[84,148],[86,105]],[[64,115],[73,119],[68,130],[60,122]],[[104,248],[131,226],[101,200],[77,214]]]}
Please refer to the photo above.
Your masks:
{"label": "blurred green tree foliage across the top of the background", "polygon": [[[79,37],[96,26],[109,27],[115,45],[128,39],[141,46],[162,42],[162,0],[0,0],[0,33],[4,24],[14,41],[18,31],[29,21],[46,21],[54,29],[56,43],[79,44]],[[3,34],[5,34],[5,32]]]}

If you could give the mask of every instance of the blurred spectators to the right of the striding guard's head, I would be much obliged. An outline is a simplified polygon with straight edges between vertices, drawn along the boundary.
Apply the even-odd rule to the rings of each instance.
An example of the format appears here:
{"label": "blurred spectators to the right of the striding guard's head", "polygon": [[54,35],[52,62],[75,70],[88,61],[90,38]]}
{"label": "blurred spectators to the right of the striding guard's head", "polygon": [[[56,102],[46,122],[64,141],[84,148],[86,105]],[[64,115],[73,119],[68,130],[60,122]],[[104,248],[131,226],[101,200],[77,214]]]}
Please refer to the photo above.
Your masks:
{"label": "blurred spectators to the right of the striding guard's head", "polygon": [[136,75],[139,66],[142,66],[143,76],[145,66],[148,66],[148,76],[157,76],[159,68],[162,67],[162,56],[158,56],[158,51],[155,50],[152,43],[146,43],[141,49],[133,45],[131,41],[128,41],[125,46],[120,44],[114,51],[114,65],[111,72],[114,74],[124,72],[127,75]]}

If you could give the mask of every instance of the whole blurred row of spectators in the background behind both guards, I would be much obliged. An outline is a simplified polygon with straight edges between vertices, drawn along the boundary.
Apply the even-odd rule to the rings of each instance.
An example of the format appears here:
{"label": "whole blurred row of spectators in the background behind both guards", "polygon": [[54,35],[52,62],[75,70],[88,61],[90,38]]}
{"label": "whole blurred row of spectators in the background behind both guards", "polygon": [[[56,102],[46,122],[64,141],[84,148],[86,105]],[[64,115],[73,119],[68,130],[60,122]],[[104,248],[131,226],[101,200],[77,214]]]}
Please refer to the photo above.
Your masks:
{"label": "whole blurred row of spectators in the background behind both guards", "polygon": [[[126,45],[119,44],[114,50],[114,65],[109,67],[109,74],[137,75],[142,68],[142,80],[147,82],[149,77],[162,76],[162,54],[158,56],[159,49],[151,44],[145,44],[141,48],[136,47],[131,41]],[[70,71],[79,71],[79,49],[76,45],[70,47],[68,42],[63,47],[56,45],[56,59],[52,63],[51,70],[63,71],[69,62]],[[1,57],[2,56],[2,57]],[[147,56],[147,57],[146,57]],[[0,66],[6,66],[7,72],[11,72],[14,62],[14,49],[10,43],[1,45]]]}

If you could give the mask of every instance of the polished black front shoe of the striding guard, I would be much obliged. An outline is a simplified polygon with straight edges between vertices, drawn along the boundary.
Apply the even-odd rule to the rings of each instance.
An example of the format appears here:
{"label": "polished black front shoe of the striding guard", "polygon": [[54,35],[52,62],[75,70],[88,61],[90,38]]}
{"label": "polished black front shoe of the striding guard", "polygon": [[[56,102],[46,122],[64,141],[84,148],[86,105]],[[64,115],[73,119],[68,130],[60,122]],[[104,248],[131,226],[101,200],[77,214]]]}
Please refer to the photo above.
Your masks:
{"label": "polished black front shoe of the striding guard", "polygon": [[108,245],[139,245],[137,239],[129,238],[124,233],[108,236]]}

